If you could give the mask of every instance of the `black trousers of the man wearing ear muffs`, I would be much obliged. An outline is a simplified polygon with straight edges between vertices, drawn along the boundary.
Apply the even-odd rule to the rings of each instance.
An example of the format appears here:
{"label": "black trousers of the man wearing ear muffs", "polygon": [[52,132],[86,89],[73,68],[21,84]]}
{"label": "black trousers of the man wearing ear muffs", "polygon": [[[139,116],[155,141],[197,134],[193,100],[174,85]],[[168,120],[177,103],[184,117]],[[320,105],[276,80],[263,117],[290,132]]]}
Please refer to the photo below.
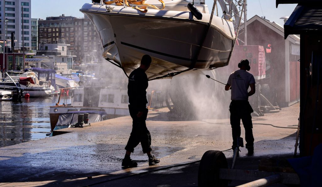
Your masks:
{"label": "black trousers of the man wearing ear muffs", "polygon": [[241,136],[241,120],[245,128],[246,148],[253,149],[253,123],[251,113],[254,112],[247,100],[233,100],[229,106],[230,124],[232,125],[232,148],[237,146],[237,138]]}

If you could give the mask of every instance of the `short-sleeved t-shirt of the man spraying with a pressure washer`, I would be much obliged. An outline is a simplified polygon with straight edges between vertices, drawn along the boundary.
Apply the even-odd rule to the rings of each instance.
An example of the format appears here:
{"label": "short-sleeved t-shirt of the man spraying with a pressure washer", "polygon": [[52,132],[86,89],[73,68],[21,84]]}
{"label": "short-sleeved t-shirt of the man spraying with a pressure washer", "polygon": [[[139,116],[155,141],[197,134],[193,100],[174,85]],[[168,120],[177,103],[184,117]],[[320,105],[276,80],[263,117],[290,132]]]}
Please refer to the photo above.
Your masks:
{"label": "short-sleeved t-shirt of the man spraying with a pressure washer", "polygon": [[248,100],[249,85],[255,83],[254,76],[245,70],[230,74],[227,84],[232,86],[232,100]]}

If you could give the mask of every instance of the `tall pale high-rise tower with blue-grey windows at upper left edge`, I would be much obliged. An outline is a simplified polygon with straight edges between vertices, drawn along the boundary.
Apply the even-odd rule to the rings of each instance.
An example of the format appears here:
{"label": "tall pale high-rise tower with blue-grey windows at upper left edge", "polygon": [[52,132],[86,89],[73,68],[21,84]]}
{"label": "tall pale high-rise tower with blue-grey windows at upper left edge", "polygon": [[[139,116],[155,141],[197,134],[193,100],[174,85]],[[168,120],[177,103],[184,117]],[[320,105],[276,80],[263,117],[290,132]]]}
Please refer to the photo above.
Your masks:
{"label": "tall pale high-rise tower with blue-grey windows at upper left edge", "polygon": [[[15,48],[31,48],[31,0],[8,0],[0,2],[1,34],[5,33],[7,47],[11,46],[11,33],[14,33]],[[5,20],[8,21],[5,22]],[[6,25],[4,25],[6,24]],[[3,36],[3,35],[2,35]]]}

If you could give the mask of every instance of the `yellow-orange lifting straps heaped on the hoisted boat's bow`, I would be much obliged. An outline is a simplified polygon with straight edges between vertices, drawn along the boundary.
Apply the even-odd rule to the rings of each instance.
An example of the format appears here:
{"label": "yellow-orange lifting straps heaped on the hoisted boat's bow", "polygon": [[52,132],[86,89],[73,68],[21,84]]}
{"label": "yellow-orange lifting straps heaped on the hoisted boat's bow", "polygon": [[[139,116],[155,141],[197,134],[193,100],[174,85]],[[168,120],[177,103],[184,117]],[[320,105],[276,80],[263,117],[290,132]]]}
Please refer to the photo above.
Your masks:
{"label": "yellow-orange lifting straps heaped on the hoisted boat's bow", "polygon": [[[165,3],[162,1],[162,0],[158,0],[160,1],[160,3],[162,4],[162,8],[159,9],[158,7],[156,7],[155,5],[152,5],[152,4],[145,4],[145,0],[105,0],[104,1],[104,4],[113,4],[115,3],[115,5],[117,6],[123,6],[124,3],[129,6],[129,7],[132,7],[132,8],[135,8],[141,12],[144,12],[146,13],[147,12],[147,7],[151,7],[151,8],[154,8],[156,10],[163,10],[165,8]],[[130,6],[129,4],[136,4],[136,6]],[[140,6],[137,6],[137,5],[140,5]]]}

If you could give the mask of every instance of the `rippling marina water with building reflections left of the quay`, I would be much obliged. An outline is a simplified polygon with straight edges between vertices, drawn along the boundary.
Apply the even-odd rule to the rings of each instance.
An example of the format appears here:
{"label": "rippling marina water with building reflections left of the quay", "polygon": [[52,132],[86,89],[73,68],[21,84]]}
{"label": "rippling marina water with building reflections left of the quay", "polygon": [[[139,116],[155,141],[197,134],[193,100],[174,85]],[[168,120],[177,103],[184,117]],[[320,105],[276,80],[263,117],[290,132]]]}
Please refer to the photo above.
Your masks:
{"label": "rippling marina water with building reflections left of the quay", "polygon": [[[50,132],[49,106],[54,106],[58,97],[0,101],[0,147],[46,138]],[[71,103],[71,98],[61,99],[60,104],[63,102]]]}

